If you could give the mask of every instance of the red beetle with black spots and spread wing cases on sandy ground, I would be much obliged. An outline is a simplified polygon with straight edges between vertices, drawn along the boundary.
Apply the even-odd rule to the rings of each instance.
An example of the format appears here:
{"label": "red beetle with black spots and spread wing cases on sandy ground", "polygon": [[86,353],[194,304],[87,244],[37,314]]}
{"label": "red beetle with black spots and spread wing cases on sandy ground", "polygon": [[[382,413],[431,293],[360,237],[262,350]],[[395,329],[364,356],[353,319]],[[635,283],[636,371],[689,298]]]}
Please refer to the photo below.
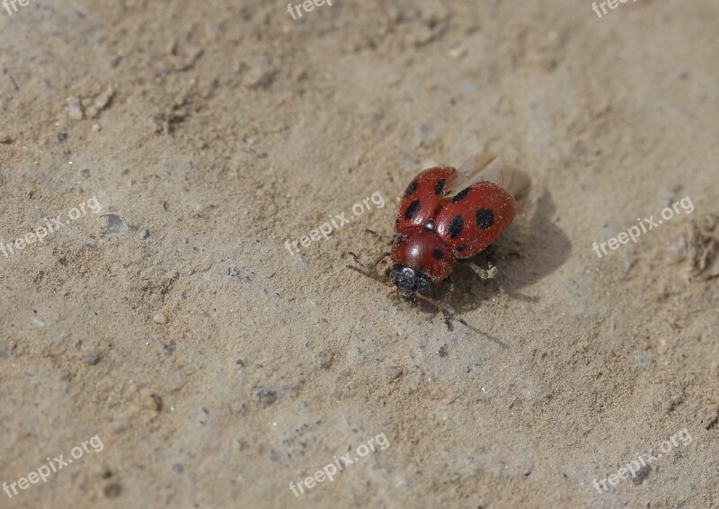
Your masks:
{"label": "red beetle with black spots and spread wing cases on sandy ground", "polygon": [[[495,156],[484,156],[477,171],[493,162]],[[500,168],[501,182],[492,182],[484,174],[460,174],[452,166],[435,166],[414,177],[404,191],[395,220],[391,253],[380,255],[373,263],[347,265],[387,286],[395,287],[387,297],[397,295],[410,302],[420,300],[439,308],[451,329],[449,316],[454,309],[448,299],[454,291],[449,275],[458,263],[470,266],[482,279],[491,279],[496,268],[480,268],[469,261],[482,253],[502,231],[510,226],[516,212],[509,188],[512,174]],[[371,231],[371,230],[370,230]],[[377,264],[391,256],[388,279],[376,272]],[[443,301],[428,295],[441,281],[448,280],[449,291]]]}

